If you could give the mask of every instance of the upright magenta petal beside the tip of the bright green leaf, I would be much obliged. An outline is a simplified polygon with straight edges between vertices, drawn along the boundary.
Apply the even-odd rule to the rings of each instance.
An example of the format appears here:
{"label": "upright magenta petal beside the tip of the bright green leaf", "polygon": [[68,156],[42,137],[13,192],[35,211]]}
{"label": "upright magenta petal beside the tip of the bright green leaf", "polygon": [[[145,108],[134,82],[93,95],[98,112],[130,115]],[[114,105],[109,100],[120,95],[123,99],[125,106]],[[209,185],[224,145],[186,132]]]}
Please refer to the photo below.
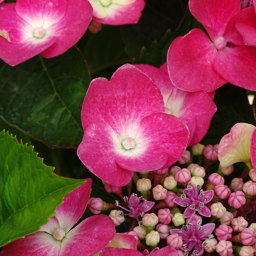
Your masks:
{"label": "upright magenta petal beside the tip of the bright green leaf", "polygon": [[70,192],[64,199],[64,203],[57,207],[55,216],[60,223],[60,228],[67,233],[81,218],[88,204],[91,194],[92,180],[86,182]]}

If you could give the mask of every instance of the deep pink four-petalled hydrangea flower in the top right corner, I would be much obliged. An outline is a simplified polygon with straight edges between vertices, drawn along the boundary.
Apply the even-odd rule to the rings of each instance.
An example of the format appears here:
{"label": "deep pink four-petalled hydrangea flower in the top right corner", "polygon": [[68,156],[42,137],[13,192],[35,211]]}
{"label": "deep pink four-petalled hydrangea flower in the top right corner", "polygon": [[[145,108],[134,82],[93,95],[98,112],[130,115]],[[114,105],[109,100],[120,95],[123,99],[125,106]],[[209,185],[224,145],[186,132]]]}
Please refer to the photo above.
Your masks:
{"label": "deep pink four-petalled hydrangea flower in the top right corner", "polygon": [[[256,90],[256,48],[244,45],[236,23],[251,23],[253,7],[240,10],[239,0],[190,0],[190,12],[205,27],[193,29],[171,44],[167,63],[175,86],[213,91],[227,81]],[[255,40],[256,37],[254,37]]]}

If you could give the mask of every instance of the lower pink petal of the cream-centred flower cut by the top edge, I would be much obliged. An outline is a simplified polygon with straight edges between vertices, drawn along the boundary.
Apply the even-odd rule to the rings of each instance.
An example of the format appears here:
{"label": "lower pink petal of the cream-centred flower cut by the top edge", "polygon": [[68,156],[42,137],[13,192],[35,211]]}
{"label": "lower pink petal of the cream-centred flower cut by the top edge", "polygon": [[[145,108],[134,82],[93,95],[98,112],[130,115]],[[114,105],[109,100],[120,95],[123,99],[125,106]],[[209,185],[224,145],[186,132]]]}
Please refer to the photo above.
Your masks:
{"label": "lower pink petal of the cream-centred flower cut by the top edge", "polygon": [[93,19],[108,25],[135,24],[140,19],[144,7],[144,0],[137,0],[129,5],[110,4],[110,6],[104,8],[106,17],[100,18],[93,14]]}

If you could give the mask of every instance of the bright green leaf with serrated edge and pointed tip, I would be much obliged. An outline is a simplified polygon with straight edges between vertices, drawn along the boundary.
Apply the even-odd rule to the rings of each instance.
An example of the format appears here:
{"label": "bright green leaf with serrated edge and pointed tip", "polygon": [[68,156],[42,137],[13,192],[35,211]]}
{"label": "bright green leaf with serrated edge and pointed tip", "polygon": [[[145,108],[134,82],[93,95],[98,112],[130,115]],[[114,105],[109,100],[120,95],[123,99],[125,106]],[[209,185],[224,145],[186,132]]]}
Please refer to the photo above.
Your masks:
{"label": "bright green leaf with serrated edge and pointed tip", "polygon": [[33,146],[0,132],[0,247],[39,231],[57,206],[84,180],[53,174]]}

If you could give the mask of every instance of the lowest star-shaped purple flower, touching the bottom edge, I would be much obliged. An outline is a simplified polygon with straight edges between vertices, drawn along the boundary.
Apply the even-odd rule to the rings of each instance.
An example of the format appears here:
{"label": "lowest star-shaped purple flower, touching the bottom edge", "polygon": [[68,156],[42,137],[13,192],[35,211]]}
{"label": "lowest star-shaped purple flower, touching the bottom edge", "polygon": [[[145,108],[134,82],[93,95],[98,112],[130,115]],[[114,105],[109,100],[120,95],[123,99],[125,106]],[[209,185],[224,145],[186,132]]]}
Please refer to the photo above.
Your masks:
{"label": "lowest star-shaped purple flower, touching the bottom edge", "polygon": [[201,240],[211,239],[214,236],[211,234],[215,228],[214,223],[208,223],[201,226],[202,222],[197,219],[193,214],[187,225],[183,226],[182,229],[172,229],[171,234],[178,234],[183,239],[183,247],[180,250],[184,251],[184,255],[188,255],[189,252],[194,248],[193,254],[200,256],[204,252],[204,247],[207,246],[206,242]]}

